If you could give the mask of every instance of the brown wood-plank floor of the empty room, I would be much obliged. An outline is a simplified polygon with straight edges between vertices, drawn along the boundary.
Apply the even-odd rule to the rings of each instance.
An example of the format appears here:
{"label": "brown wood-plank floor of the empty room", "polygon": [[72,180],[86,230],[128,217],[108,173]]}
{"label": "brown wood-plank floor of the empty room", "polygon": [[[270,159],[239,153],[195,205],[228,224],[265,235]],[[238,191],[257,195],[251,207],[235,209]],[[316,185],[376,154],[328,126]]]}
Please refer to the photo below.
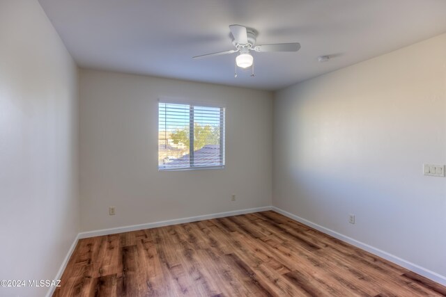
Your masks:
{"label": "brown wood-plank floor of the empty room", "polygon": [[81,239],[54,296],[446,296],[275,213]]}

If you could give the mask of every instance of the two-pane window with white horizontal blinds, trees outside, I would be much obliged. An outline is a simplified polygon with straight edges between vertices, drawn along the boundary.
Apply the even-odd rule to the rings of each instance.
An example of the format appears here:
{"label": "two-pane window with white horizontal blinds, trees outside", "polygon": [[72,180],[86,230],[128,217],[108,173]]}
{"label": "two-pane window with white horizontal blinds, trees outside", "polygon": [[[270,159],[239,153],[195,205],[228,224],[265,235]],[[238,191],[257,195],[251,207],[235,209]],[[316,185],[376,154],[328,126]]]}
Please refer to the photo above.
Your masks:
{"label": "two-pane window with white horizontal blinds, trees outside", "polygon": [[158,104],[159,170],[223,166],[223,107]]}

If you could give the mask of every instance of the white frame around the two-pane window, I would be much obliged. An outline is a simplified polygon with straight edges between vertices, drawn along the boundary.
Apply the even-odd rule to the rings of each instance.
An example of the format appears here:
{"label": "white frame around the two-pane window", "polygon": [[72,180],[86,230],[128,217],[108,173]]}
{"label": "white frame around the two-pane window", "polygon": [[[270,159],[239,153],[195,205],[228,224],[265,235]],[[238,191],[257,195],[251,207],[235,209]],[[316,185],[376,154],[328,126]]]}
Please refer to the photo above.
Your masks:
{"label": "white frame around the two-pane window", "polygon": [[[189,166],[180,168],[161,168],[158,161],[157,168],[158,171],[182,171],[182,170],[206,170],[206,169],[224,169],[226,165],[226,154],[225,154],[225,140],[226,140],[226,106],[219,103],[210,102],[192,102],[185,99],[171,99],[171,98],[160,98],[157,102],[157,137],[160,137],[160,104],[180,104],[189,106]],[[219,165],[203,166],[194,164],[194,107],[212,107],[215,109],[220,109],[220,154],[219,154]],[[160,156],[160,145],[158,145],[157,156]],[[158,159],[159,160],[159,159]]]}

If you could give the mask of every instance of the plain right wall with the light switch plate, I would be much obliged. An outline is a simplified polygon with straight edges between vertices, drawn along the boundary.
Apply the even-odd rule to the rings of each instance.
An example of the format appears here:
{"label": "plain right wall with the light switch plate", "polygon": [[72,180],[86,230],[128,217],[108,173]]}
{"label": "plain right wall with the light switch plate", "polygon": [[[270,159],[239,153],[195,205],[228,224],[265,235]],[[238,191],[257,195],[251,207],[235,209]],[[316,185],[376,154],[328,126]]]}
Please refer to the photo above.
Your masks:
{"label": "plain right wall with the light switch plate", "polygon": [[445,282],[446,179],[422,164],[446,163],[446,35],[281,90],[274,107],[272,204]]}

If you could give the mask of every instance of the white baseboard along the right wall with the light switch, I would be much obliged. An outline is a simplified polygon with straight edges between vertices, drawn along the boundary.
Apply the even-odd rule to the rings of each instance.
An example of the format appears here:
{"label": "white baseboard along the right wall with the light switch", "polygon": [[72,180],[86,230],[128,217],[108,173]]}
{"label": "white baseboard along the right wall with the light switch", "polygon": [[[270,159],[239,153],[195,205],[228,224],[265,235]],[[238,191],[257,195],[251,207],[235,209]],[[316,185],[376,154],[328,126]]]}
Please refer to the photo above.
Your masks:
{"label": "white baseboard along the right wall with the light switch", "polygon": [[339,239],[341,241],[345,241],[346,243],[350,243],[352,246],[356,246],[357,248],[361,248],[362,250],[366,250],[367,252],[371,252],[372,254],[381,257],[383,259],[386,259],[390,262],[393,262],[394,264],[398,264],[399,266],[402,266],[404,268],[409,269],[410,271],[413,271],[415,273],[418,273],[420,275],[423,275],[425,278],[429,278],[430,280],[433,280],[434,282],[438,282],[439,284],[443,284],[446,286],[446,277],[444,275],[440,275],[436,272],[430,271],[429,269],[426,269],[422,266],[419,266],[417,264],[413,264],[412,262],[408,262],[405,259],[401,259],[400,257],[397,257],[395,255],[392,255],[388,252],[385,252],[384,250],[380,250],[379,248],[375,248],[373,246],[369,246],[367,243],[362,243],[361,241],[357,241],[356,239],[353,239],[351,237],[348,237],[344,234],[338,233],[336,231],[333,231],[331,229],[328,229],[326,227],[323,227],[321,225],[318,225],[316,223],[313,223],[309,220],[306,220],[305,218],[301,218],[300,216],[296,216],[294,214],[290,214],[288,211],[284,211],[282,209],[279,209],[277,207],[271,207],[273,211],[278,212],[279,214],[283,214],[284,216],[287,216],[293,220],[297,220],[298,222],[305,224],[309,227],[312,227],[318,231],[321,231],[325,234],[328,234],[330,236],[333,236],[336,239]]}

